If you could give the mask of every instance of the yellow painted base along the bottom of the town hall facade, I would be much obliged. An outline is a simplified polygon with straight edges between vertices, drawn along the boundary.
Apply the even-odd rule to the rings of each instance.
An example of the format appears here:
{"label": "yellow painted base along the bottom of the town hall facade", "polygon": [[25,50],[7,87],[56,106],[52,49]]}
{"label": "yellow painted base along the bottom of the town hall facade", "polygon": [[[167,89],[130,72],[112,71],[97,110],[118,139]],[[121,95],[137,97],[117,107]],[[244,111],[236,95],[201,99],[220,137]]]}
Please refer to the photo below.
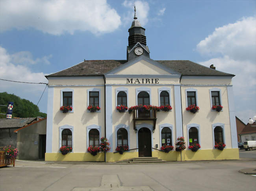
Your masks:
{"label": "yellow painted base along the bottom of the town hall facade", "polygon": [[[184,161],[184,160],[236,160],[239,159],[238,149],[218,149],[198,150],[192,152],[190,150],[182,151],[182,158],[180,152],[170,151],[164,153],[161,151],[152,151],[153,157],[166,161]],[[138,152],[124,152],[122,155],[119,153],[106,153],[107,162],[115,162],[120,160],[127,160],[138,157]],[[90,153],[68,153],[62,155],[61,153],[45,153],[46,161],[104,161],[104,153],[98,153],[96,156]]]}

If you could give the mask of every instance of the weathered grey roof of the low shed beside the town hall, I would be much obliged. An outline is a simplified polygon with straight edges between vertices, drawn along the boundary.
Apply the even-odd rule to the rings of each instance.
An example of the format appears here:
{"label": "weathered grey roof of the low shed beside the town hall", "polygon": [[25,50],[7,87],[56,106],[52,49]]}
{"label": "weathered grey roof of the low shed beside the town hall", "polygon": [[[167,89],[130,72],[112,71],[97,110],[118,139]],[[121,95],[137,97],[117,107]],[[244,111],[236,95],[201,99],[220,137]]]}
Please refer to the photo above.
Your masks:
{"label": "weathered grey roof of the low shed beside the town hall", "polygon": [[19,118],[19,119],[0,119],[0,128],[15,128],[23,127],[36,120],[36,117],[32,118]]}

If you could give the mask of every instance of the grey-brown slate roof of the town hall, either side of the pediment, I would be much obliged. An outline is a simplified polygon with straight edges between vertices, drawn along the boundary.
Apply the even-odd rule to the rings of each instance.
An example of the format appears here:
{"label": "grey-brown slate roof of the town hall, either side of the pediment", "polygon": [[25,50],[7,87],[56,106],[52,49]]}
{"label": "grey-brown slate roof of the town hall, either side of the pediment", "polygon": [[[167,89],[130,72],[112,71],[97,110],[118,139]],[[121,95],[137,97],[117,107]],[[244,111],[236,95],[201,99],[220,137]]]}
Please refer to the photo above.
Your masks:
{"label": "grey-brown slate roof of the town hall, either side of the pediment", "polygon": [[[211,69],[189,60],[155,60],[156,62],[169,67],[185,76],[234,76]],[[68,69],[48,75],[54,76],[103,76],[104,73],[125,64],[127,60],[85,60]],[[45,76],[46,78],[48,76]]]}

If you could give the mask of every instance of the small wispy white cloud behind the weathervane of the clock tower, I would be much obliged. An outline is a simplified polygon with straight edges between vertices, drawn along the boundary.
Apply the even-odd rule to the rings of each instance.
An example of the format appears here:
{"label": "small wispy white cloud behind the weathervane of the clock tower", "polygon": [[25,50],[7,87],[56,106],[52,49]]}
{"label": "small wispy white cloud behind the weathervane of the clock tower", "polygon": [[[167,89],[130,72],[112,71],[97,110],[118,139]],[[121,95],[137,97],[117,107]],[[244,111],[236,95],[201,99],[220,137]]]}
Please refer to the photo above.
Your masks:
{"label": "small wispy white cloud behind the weathervane of the clock tower", "polygon": [[148,22],[148,12],[149,5],[148,2],[145,1],[129,1],[125,0],[122,5],[127,7],[129,10],[124,14],[123,22],[124,25],[130,23],[132,24],[132,20],[134,18],[134,3],[136,6],[136,16],[141,24],[141,26],[145,26]]}

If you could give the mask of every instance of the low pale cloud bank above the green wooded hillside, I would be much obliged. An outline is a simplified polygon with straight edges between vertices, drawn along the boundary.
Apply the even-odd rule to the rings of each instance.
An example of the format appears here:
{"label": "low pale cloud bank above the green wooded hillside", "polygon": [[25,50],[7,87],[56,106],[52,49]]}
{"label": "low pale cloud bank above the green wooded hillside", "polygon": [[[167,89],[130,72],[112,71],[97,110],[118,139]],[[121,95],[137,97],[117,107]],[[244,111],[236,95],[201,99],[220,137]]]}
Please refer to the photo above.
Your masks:
{"label": "low pale cloud bank above the green wooded hillside", "polygon": [[[21,60],[27,60],[27,55],[31,55],[29,52],[15,53],[13,55],[19,55]],[[22,58],[21,55],[25,57]],[[0,78],[6,80],[14,80],[20,82],[43,82],[48,83],[48,80],[45,78],[44,73],[34,73],[23,63],[15,63],[13,60],[13,55],[7,53],[6,49],[0,46]],[[43,60],[43,59],[41,59]],[[30,59],[30,62],[36,63],[36,60]],[[7,82],[0,80],[0,90],[1,92],[13,93],[20,98],[25,98],[32,101],[34,104],[37,104],[45,85],[43,84],[23,84],[15,82]],[[44,93],[42,100],[40,101],[39,106],[43,108],[43,112],[46,112],[47,103],[47,91]]]}

